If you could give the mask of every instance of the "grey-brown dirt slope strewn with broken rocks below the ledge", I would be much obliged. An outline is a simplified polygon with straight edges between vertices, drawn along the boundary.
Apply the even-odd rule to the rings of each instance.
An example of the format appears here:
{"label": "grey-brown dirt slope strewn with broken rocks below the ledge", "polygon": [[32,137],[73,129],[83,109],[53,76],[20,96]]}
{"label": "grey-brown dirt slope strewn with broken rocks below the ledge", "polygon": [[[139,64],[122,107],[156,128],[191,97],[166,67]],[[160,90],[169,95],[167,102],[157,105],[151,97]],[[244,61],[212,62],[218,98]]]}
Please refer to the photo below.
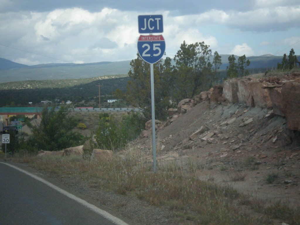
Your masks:
{"label": "grey-brown dirt slope strewn with broken rocks below the ledge", "polygon": [[[201,179],[232,185],[266,204],[282,200],[298,205],[299,132],[287,130],[286,119],[271,110],[202,101],[157,130],[158,167],[174,160],[195,161]],[[150,131],[138,140],[149,160],[151,143]]]}

